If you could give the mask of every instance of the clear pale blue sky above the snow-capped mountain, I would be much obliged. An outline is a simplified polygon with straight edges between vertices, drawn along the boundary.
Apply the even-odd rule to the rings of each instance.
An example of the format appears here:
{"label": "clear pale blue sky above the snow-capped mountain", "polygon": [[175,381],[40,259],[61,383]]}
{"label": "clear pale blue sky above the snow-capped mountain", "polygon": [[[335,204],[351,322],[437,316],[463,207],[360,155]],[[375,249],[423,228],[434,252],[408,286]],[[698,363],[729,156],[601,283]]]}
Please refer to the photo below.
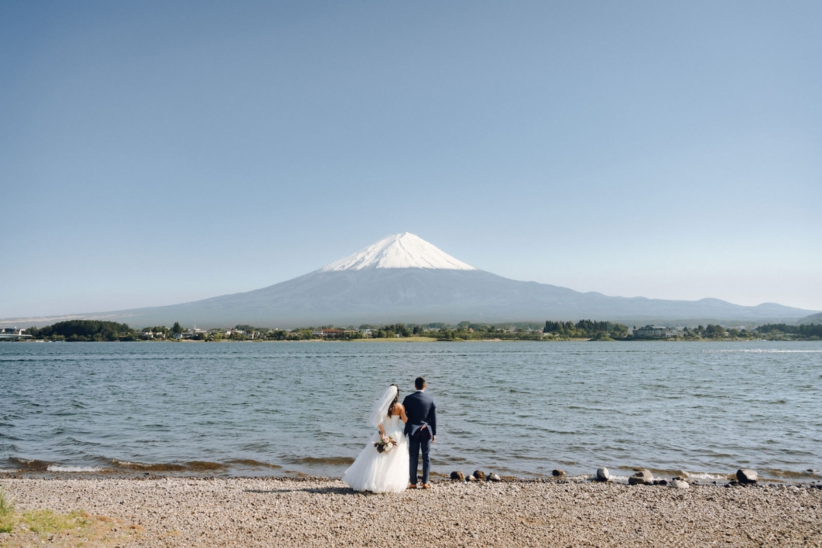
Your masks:
{"label": "clear pale blue sky above the snow-capped mountain", "polygon": [[608,295],[822,310],[822,2],[0,2],[0,317],[408,231]]}

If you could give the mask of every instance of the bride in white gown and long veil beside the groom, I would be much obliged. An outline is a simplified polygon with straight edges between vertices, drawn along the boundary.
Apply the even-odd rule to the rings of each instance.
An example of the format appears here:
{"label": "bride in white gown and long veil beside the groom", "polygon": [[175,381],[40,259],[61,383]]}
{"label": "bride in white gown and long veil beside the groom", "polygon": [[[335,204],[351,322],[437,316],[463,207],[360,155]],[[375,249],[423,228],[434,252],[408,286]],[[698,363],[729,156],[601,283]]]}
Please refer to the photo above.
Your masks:
{"label": "bride in white gown and long veil beside the groom", "polygon": [[[368,423],[379,428],[380,432],[373,435],[343,474],[343,481],[353,490],[399,493],[408,486],[409,448],[403,433],[404,422],[408,421],[408,417],[398,400],[397,385],[390,385],[374,405]],[[390,436],[396,444],[390,444],[387,452],[380,453],[375,443],[386,440],[386,436]]]}

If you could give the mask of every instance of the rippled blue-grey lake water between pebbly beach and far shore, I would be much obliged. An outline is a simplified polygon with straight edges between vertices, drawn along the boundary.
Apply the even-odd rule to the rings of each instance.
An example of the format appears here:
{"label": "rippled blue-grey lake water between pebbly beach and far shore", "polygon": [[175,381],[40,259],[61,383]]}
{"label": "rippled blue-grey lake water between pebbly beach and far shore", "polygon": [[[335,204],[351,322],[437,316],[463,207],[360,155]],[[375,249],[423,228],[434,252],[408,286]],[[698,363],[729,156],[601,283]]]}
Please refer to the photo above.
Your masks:
{"label": "rippled blue-grey lake water between pebbly beach and far shore", "polygon": [[0,470],[339,477],[425,375],[433,470],[819,479],[822,343],[0,343]]}

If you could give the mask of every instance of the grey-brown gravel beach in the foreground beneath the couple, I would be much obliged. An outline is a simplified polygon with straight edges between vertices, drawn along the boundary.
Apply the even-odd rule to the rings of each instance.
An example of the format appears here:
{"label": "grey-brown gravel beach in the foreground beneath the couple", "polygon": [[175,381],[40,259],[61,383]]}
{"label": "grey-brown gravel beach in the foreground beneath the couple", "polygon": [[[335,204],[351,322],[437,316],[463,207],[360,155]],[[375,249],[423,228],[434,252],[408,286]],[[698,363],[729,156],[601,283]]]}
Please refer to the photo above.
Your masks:
{"label": "grey-brown gravel beach in the foreground beneath the couple", "polygon": [[372,495],[314,478],[7,477],[0,488],[18,511],[82,509],[96,527],[15,530],[0,546],[822,546],[815,486],[443,481]]}

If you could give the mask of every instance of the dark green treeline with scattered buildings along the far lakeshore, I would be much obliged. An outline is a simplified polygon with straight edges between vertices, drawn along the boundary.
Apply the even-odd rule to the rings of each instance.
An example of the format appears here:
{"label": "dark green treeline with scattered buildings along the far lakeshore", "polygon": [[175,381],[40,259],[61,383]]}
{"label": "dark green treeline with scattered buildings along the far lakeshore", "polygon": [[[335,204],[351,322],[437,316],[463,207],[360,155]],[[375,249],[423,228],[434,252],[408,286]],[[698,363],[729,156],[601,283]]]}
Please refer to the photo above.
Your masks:
{"label": "dark green treeline with scattered buildings along the far lakeshore", "polygon": [[554,321],[544,325],[533,322],[514,322],[504,325],[478,324],[462,321],[457,325],[441,322],[429,324],[334,325],[270,329],[252,325],[229,328],[187,328],[175,322],[172,327],[155,325],[137,330],[127,324],[100,320],[67,320],[41,328],[4,329],[3,340],[35,339],[45,341],[94,342],[141,340],[194,340],[194,341],[300,341],[300,340],[357,340],[423,339],[441,341],[469,340],[526,340],[526,341],[634,341],[634,340],[820,340],[822,324],[764,324],[749,327],[716,324],[672,328],[645,325],[629,328],[627,325],[598,320]]}

